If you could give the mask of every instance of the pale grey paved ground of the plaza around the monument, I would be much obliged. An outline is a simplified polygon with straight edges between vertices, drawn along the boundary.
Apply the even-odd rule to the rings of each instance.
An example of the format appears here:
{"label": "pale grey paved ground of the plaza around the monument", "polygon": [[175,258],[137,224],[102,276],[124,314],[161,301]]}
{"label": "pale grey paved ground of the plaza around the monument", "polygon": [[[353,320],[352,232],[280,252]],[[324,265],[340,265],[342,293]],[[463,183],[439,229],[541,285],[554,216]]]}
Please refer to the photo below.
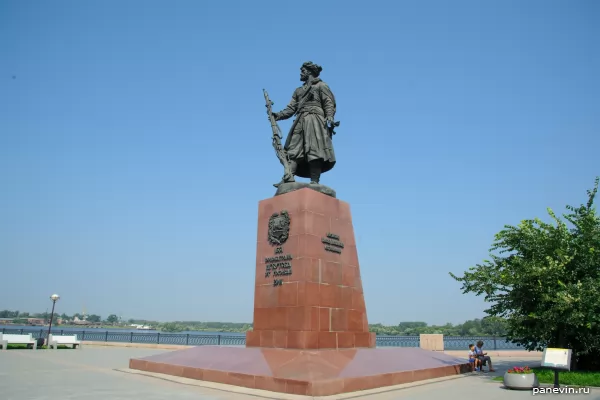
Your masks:
{"label": "pale grey paved ground of the plaza around the monument", "polygon": [[[234,393],[231,387],[207,383],[198,386],[197,381],[169,377],[160,379],[137,373],[127,373],[132,357],[145,357],[168,350],[84,347],[79,350],[9,350],[0,351],[0,398],[3,400],[257,400],[307,399],[264,391],[252,394]],[[518,392],[502,388],[492,381],[493,376],[503,375],[514,365],[539,365],[539,360],[494,359],[497,372],[469,374],[458,378],[417,382],[395,387],[380,393],[357,392],[350,395],[330,396],[323,399],[355,398],[369,400],[437,400],[437,399],[484,399],[509,400],[529,398],[529,391]],[[131,371],[134,372],[134,371]],[[226,389],[226,390],[223,390]],[[248,389],[238,389],[248,391]],[[541,395],[540,395],[541,396]],[[582,397],[600,400],[600,389],[589,395],[546,394],[545,397]]]}

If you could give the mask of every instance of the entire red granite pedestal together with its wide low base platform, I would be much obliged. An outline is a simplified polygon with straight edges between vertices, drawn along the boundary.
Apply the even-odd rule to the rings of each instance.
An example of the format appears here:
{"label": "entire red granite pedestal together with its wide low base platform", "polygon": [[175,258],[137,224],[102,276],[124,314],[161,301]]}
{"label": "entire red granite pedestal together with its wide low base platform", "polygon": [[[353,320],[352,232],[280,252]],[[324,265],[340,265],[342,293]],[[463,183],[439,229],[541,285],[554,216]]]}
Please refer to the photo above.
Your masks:
{"label": "entire red granite pedestal together with its wide low base platform", "polygon": [[129,366],[310,396],[454,375],[468,367],[443,353],[374,347],[350,207],[300,189],[259,203],[254,325],[246,348],[194,347],[131,359]]}

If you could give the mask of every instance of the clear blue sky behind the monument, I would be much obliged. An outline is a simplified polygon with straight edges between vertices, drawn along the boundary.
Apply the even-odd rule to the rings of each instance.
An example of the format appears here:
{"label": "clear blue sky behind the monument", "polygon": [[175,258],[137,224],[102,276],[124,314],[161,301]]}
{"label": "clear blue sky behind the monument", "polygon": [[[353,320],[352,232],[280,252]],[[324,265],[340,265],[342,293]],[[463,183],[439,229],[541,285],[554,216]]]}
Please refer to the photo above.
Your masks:
{"label": "clear blue sky behind the monument", "polygon": [[[449,271],[600,174],[600,3],[0,2],[0,309],[252,321],[304,61],[342,122],[371,323],[482,317]],[[281,123],[287,133],[291,120]]]}

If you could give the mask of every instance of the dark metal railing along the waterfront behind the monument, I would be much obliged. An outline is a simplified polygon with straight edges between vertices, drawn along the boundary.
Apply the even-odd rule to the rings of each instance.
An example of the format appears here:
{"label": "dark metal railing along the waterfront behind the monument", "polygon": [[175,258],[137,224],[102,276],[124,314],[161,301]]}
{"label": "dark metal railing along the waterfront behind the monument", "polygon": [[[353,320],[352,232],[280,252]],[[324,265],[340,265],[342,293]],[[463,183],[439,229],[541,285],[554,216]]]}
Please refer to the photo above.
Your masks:
{"label": "dark metal railing along the waterfront behind the monument", "polygon": [[[1,328],[2,333],[29,334],[34,339],[46,338],[47,329],[11,329]],[[161,332],[115,332],[115,331],[76,331],[52,329],[53,335],[77,335],[79,340],[95,342],[175,344],[184,346],[244,346],[245,334],[202,334],[202,333],[161,333]],[[496,336],[444,336],[445,350],[467,350],[468,345],[476,344],[479,340],[485,343],[489,350],[521,349],[515,343],[508,342],[504,337]],[[419,347],[419,336],[377,336],[377,347]]]}

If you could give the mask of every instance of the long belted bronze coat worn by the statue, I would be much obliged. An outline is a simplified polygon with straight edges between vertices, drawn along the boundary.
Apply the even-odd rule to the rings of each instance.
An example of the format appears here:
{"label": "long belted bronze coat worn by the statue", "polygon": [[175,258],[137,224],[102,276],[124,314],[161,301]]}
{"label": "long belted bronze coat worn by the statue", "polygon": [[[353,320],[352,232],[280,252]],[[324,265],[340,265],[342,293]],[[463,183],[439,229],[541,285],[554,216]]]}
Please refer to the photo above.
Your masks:
{"label": "long belted bronze coat worn by the statue", "polygon": [[284,146],[290,159],[298,163],[297,176],[310,178],[308,162],[312,160],[323,161],[322,172],[335,165],[333,143],[325,124],[325,119],[333,118],[335,111],[335,97],[331,89],[321,79],[315,78],[297,88],[290,104],[278,113],[280,120],[297,115],[297,122],[292,125]]}

